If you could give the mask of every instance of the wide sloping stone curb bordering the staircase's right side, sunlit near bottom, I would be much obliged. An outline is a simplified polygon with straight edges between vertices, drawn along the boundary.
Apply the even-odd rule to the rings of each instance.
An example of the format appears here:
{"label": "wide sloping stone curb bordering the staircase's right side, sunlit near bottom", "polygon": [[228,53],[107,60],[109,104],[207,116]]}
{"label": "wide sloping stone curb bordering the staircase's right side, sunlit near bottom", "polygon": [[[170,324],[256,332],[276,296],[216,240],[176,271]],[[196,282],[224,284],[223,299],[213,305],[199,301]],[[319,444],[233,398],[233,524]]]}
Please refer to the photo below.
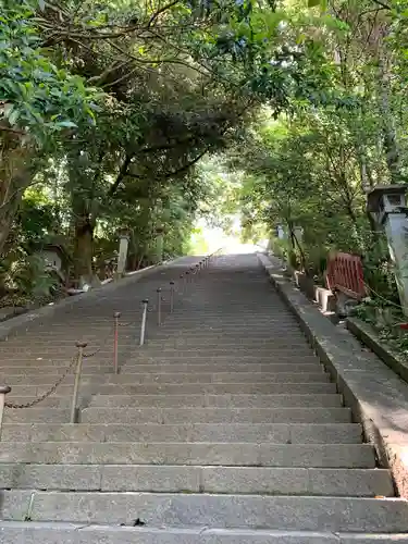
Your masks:
{"label": "wide sloping stone curb bordering the staircase's right side, sunlit near bottom", "polygon": [[408,385],[380,359],[358,349],[285,277],[275,257],[258,259],[282,299],[361,422],[381,467],[390,467],[396,492],[408,498]]}

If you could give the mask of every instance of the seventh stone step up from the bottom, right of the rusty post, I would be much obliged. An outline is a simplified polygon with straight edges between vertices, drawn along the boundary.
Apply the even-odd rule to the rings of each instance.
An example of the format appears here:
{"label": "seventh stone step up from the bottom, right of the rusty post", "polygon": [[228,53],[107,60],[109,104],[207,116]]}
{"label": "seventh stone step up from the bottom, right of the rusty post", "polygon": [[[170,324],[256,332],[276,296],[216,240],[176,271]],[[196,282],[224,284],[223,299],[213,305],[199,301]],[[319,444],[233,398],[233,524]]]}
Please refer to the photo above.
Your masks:
{"label": "seventh stone step up from the bottom, right of the rusty post", "polygon": [[[65,400],[64,398],[62,400]],[[338,407],[342,395],[96,395],[89,406],[219,407],[219,408],[298,408]],[[57,405],[57,404],[55,404]]]}

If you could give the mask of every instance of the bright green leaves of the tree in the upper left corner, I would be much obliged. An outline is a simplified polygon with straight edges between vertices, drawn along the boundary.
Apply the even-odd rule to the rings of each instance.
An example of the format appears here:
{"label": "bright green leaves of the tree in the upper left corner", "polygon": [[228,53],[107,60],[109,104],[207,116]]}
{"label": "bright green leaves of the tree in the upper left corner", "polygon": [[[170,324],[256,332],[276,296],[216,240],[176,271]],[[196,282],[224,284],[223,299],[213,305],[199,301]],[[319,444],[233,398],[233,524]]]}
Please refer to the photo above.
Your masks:
{"label": "bright green leaves of the tree in the upper left corner", "polygon": [[47,57],[34,10],[28,1],[1,2],[0,128],[45,144],[54,133],[75,128],[78,121],[94,122],[97,95],[82,77]]}

